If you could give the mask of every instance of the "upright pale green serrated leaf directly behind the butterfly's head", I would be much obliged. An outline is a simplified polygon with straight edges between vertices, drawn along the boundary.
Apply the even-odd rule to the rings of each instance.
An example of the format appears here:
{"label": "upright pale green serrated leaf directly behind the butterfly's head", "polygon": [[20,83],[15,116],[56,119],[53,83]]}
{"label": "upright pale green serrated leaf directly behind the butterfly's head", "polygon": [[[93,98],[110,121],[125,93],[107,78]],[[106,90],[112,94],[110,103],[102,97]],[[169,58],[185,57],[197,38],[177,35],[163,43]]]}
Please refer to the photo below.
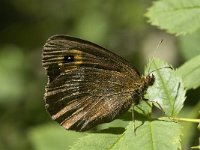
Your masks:
{"label": "upright pale green serrated leaf directly behind the butterfly's head", "polygon": [[176,116],[183,107],[186,91],[181,77],[169,67],[170,65],[159,59],[149,62],[145,74],[152,72],[155,83],[148,88],[147,94],[149,100],[158,103],[166,115]]}

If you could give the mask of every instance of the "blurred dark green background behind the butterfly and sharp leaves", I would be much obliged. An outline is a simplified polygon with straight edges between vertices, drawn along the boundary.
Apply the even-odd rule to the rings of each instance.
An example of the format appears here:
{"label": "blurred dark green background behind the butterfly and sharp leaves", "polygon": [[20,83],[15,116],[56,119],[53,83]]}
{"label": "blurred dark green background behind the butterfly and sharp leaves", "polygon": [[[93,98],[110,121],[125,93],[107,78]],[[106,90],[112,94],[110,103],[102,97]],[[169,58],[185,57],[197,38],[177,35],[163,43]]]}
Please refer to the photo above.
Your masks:
{"label": "blurred dark green background behind the butterfly and sharp leaves", "polygon": [[[176,68],[200,53],[192,47],[200,34],[175,37],[148,24],[145,13],[151,5],[151,0],[1,0],[0,149],[59,149],[81,136],[75,133],[66,139],[67,132],[51,121],[44,108],[47,76],[41,53],[52,35],[97,43],[127,59],[141,73],[152,56]],[[188,46],[193,48],[190,52]],[[199,91],[187,93],[183,114],[196,105]],[[196,142],[196,131],[192,131],[186,145]],[[66,142],[56,141],[58,137]]]}

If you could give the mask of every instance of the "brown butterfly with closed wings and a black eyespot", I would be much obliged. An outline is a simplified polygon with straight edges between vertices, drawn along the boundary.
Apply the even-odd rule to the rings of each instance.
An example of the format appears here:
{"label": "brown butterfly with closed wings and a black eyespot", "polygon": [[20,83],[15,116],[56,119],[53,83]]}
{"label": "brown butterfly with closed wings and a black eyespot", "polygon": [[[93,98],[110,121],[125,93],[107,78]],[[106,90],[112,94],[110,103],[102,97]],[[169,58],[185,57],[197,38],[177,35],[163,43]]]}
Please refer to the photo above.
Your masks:
{"label": "brown butterfly with closed wings and a black eyespot", "polygon": [[139,103],[154,76],[89,41],[55,35],[43,50],[46,109],[65,129],[85,131]]}

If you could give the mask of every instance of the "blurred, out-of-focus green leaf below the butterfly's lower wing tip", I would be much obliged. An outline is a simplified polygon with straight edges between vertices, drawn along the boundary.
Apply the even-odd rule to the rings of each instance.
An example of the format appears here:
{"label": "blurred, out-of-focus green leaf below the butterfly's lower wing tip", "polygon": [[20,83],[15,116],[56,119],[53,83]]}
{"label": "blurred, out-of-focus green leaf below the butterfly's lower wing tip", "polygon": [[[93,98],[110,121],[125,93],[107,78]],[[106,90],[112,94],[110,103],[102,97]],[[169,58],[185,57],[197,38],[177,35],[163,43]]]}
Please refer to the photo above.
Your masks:
{"label": "blurred, out-of-focus green leaf below the butterfly's lower wing tip", "polygon": [[86,135],[74,131],[66,131],[64,128],[56,125],[44,125],[32,128],[29,131],[29,139],[37,150],[55,150],[69,149],[69,146],[78,140],[78,138]]}

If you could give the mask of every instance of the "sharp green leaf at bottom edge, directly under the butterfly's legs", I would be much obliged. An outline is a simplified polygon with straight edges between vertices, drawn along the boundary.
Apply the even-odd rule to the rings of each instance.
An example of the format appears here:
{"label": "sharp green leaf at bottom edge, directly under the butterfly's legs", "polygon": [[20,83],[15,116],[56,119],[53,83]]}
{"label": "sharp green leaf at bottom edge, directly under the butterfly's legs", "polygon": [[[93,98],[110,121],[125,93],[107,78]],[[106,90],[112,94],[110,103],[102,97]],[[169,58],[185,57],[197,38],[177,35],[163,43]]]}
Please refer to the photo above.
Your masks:
{"label": "sharp green leaf at bottom edge, directly under the butterfly's legs", "polygon": [[[177,150],[181,147],[181,126],[168,121],[141,121],[136,122],[138,126],[136,135],[133,124],[127,126],[126,132],[120,137],[113,149],[142,149],[142,150]],[[169,129],[171,131],[169,132]]]}

